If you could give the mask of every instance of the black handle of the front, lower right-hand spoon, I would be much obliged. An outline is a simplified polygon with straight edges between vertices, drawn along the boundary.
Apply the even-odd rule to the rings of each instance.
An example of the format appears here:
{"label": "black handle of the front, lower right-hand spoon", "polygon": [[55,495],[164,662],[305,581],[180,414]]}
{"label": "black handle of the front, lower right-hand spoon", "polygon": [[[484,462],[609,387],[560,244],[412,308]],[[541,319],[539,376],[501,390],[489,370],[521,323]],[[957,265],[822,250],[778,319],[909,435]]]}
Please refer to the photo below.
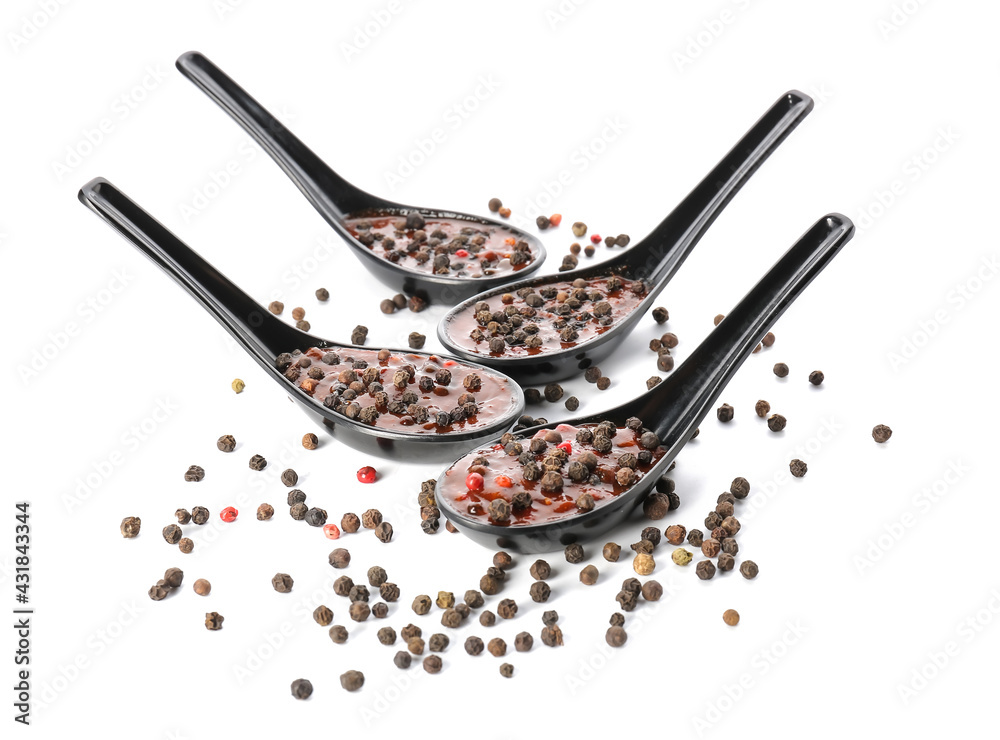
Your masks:
{"label": "black handle of the front, lower right-hand spoon", "polygon": [[853,236],[846,216],[817,221],[669,378],[640,397],[636,415],[657,419],[653,430],[671,452],[688,441],[764,334]]}

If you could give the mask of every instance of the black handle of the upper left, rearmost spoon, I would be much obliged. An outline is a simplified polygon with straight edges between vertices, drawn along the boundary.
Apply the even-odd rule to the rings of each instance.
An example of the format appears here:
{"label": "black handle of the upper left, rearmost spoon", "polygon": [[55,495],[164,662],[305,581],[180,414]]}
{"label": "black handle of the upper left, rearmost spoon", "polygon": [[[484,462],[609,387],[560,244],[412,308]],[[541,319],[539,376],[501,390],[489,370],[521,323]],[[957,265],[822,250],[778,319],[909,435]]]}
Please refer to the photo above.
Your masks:
{"label": "black handle of the upper left, rearmost spoon", "polygon": [[355,187],[330,169],[281,121],[204,55],[196,51],[182,54],[177,59],[177,69],[271,155],[331,225],[338,225],[352,211],[394,205]]}

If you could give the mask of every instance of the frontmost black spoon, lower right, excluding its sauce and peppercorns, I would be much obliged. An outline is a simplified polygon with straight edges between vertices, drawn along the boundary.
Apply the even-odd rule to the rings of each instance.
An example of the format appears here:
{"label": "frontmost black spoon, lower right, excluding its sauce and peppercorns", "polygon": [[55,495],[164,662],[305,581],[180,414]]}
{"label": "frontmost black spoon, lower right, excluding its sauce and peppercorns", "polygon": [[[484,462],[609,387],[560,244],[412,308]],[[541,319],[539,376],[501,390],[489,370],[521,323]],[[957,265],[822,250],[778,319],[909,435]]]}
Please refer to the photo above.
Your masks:
{"label": "frontmost black spoon, lower right, excluding its sauce and peppercorns", "polygon": [[[460,532],[477,542],[487,547],[520,552],[551,552],[571,542],[598,537],[621,523],[666,472],[733,374],[750,356],[775,320],[853,235],[854,224],[845,216],[829,214],[823,217],[778,260],[684,364],[666,380],[621,406],[600,414],[562,422],[579,426],[607,419],[621,427],[629,417],[635,416],[648,429],[656,432],[666,452],[632,488],[587,513],[574,513],[565,519],[548,523],[501,527],[467,516],[454,502],[441,495],[449,474],[458,475],[463,481],[465,479],[465,468],[459,469],[453,465],[438,479],[438,508]],[[518,436],[530,439],[539,430],[555,426],[557,425],[545,424],[531,427]],[[498,439],[493,442],[496,443]],[[477,449],[490,447],[491,445],[486,444]]]}

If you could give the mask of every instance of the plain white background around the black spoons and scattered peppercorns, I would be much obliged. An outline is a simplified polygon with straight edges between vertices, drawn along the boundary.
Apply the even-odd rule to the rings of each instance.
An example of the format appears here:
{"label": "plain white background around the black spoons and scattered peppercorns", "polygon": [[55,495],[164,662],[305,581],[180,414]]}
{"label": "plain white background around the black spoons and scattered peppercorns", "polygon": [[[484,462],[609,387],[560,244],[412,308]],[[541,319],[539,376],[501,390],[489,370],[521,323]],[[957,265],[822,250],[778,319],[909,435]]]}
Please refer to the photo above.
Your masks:
{"label": "plain white background around the black spoons and scattered peppercorns", "polygon": [[[916,0],[5,3],[0,591],[10,608],[13,504],[26,499],[33,731],[984,730],[1000,644],[989,467],[1000,299],[988,262],[997,251],[998,13],[987,2]],[[399,646],[379,645],[378,627],[414,621],[425,637],[446,631],[434,613],[413,615],[410,601],[461,594],[490,562],[461,535],[420,532],[418,484],[440,464],[369,459],[332,440],[303,450],[311,422],[198,305],[81,207],[76,191],[109,178],[261,302],[304,306],[319,335],[346,338],[364,323],[372,346],[399,346],[418,330],[436,348],[445,307],[378,312],[391,291],[173,69],[188,49],[206,53],[365,189],[484,214],[496,195],[529,225],[539,202],[563,213],[564,225],[542,235],[551,270],[573,240],[570,223],[638,239],[782,92],[813,95],[815,111],[662,298],[683,360],[712,317],[815,219],[837,210],[860,227],[780,320],[774,347],[724,392],[735,420],[706,421],[681,454],[683,503],[658,523],[702,526],[718,493],[747,477],[740,557],[759,564],[757,580],[731,573],[700,582],[661,546],[654,577],[673,595],[631,613],[628,645],[607,655],[603,635],[632,575],[629,559],[605,563],[600,543],[590,545],[601,580],[587,588],[577,580],[582,564],[552,555],[553,598],[543,607],[528,598],[530,559],[519,558],[502,595],[521,606],[512,622],[485,629],[473,617],[450,633],[440,675],[394,668]],[[109,132],[88,145],[102,119]],[[623,130],[613,133],[609,120]],[[435,128],[444,142],[419,161],[418,142]],[[401,158],[418,165],[400,170]],[[226,186],[211,187],[233,163]],[[546,200],[562,171],[571,184]],[[214,197],[198,201],[206,189]],[[341,296],[340,308],[316,301],[320,286]],[[75,336],[63,341],[70,324]],[[640,324],[605,364],[614,380],[605,393],[568,382],[581,410],[642,390],[655,372],[645,345],[662,331],[651,318]],[[778,361],[791,367],[783,382],[771,373]],[[819,389],[806,380],[813,369],[826,373]],[[247,383],[239,396],[229,390],[235,377]],[[753,416],[759,398],[788,417],[783,434]],[[895,432],[884,446],[870,436],[878,423]],[[215,449],[226,433],[240,443],[231,455]],[[271,461],[264,473],[248,469],[254,453]],[[789,482],[780,476],[792,457],[807,460],[809,473]],[[95,472],[111,459],[110,474]],[[192,463],[206,469],[203,482],[183,481]],[[367,463],[380,471],[374,486],[355,479]],[[326,564],[331,543],[286,513],[277,476],[288,466],[334,521],[374,506],[395,526],[389,545],[370,533],[340,543],[353,553],[356,581],[378,563],[400,584],[386,622],[355,626],[346,600],[330,593],[339,575]],[[217,512],[237,501],[240,519],[219,523]],[[253,516],[262,501],[277,510],[269,523]],[[196,549],[182,555],[159,530],[174,509],[195,505],[209,507],[212,524],[185,528]],[[126,515],[143,520],[135,540],[118,534]],[[636,520],[613,538],[627,551],[642,526]],[[151,602],[147,588],[175,565],[184,588]],[[277,571],[294,576],[291,594],[271,589]],[[190,590],[199,577],[213,583],[208,598]],[[312,622],[317,603],[347,625],[346,645]],[[538,641],[544,608],[561,615],[562,648]],[[742,614],[735,629],[722,622],[727,608]],[[225,615],[221,632],[202,626],[208,610]],[[470,634],[512,644],[521,630],[536,644],[511,650],[511,680],[500,677],[500,660],[462,650]],[[276,634],[284,636],[271,649]],[[5,687],[15,680],[13,638],[8,629]],[[365,673],[362,691],[340,688],[347,669]],[[308,702],[289,694],[299,677],[315,686]],[[9,691],[0,702],[8,727],[12,702]]]}

